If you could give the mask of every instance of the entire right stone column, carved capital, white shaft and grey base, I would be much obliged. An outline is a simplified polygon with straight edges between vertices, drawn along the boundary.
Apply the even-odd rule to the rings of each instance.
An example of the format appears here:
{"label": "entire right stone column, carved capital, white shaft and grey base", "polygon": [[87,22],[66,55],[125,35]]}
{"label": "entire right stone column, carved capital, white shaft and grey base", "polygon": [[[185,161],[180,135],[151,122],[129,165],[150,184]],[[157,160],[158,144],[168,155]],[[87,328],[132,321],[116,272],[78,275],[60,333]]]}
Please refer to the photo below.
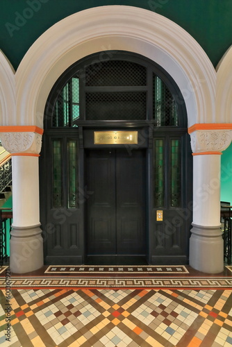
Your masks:
{"label": "entire right stone column, carved capital, white shaft and grey base", "polygon": [[230,130],[195,130],[193,157],[193,221],[190,266],[205,273],[224,269],[220,223],[221,151],[231,143]]}

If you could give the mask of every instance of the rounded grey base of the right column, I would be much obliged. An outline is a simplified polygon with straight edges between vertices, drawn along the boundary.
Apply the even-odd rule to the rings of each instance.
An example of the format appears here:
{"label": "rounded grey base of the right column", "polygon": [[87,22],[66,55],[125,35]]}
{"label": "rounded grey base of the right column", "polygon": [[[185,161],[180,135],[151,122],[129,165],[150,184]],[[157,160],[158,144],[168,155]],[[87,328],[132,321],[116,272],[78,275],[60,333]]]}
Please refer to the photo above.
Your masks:
{"label": "rounded grey base of the right column", "polygon": [[224,269],[224,242],[220,226],[192,224],[190,266],[205,273],[220,273]]}

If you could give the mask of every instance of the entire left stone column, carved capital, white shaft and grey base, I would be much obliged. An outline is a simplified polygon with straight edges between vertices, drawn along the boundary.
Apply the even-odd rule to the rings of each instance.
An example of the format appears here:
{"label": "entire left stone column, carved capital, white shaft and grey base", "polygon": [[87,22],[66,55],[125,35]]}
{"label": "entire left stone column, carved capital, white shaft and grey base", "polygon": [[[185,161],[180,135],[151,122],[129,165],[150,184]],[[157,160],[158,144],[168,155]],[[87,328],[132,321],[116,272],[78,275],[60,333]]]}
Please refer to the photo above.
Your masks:
{"label": "entire left stone column, carved capital, white shaft and grey base", "polygon": [[40,133],[1,133],[4,148],[12,153],[13,226],[10,270],[13,273],[35,271],[44,264],[39,206],[38,157],[42,129],[40,130]]}

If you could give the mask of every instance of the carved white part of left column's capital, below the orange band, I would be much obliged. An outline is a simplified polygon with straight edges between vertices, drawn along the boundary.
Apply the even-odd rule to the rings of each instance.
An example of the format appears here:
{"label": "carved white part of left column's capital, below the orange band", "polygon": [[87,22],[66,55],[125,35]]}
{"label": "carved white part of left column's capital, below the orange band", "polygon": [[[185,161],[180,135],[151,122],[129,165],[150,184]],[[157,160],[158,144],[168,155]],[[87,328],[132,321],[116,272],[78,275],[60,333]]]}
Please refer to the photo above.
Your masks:
{"label": "carved white part of left column's capital, below the orange band", "polygon": [[1,133],[1,143],[10,153],[39,154],[42,146],[42,135],[38,133]]}

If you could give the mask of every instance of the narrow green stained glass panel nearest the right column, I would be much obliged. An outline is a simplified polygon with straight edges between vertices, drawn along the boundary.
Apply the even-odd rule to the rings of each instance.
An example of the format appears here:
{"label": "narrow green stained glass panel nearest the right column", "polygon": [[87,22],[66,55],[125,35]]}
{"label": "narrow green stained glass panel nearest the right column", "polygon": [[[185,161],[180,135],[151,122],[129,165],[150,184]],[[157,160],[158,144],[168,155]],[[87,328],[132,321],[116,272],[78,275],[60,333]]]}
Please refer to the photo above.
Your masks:
{"label": "narrow green stained glass panel nearest the right column", "polygon": [[170,206],[181,207],[181,140],[171,139],[171,196]]}

